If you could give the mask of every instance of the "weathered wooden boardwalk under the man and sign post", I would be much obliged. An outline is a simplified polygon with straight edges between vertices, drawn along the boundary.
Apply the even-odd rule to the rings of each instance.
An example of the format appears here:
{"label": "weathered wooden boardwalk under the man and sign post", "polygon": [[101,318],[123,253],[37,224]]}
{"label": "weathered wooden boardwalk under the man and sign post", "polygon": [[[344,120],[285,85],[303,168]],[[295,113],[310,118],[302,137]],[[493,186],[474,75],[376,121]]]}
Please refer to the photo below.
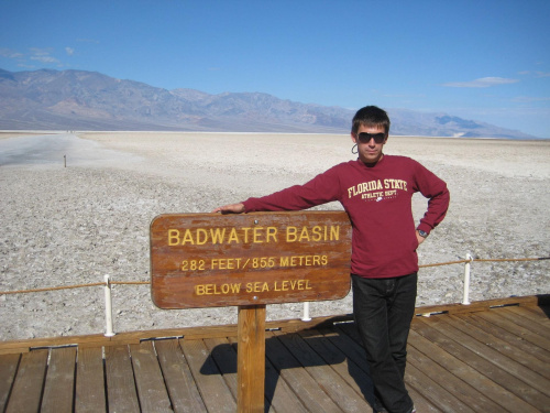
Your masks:
{"label": "weathered wooden boardwalk under the man and sign post", "polygon": [[[419,413],[550,412],[547,295],[418,313],[437,313],[415,317],[409,337],[406,381]],[[372,411],[349,316],[267,327],[266,412]],[[0,412],[235,412],[235,334],[223,326],[0,343]]]}

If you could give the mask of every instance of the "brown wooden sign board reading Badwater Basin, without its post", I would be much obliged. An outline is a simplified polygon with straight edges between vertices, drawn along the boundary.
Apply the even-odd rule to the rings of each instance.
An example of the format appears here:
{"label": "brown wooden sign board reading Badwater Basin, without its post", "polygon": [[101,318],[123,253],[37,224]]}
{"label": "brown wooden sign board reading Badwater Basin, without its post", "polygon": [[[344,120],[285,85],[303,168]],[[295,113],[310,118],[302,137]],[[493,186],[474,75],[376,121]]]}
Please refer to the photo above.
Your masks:
{"label": "brown wooden sign board reading Badwater Basin, without its post", "polygon": [[161,308],[338,300],[350,290],[343,211],[161,215],[151,224]]}

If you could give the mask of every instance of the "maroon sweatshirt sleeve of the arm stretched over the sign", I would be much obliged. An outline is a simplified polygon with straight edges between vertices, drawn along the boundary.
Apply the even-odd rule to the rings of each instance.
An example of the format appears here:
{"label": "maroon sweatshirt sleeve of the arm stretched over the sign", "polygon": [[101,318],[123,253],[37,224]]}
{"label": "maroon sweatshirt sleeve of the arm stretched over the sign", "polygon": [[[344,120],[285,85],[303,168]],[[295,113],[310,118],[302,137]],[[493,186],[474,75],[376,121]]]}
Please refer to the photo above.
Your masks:
{"label": "maroon sweatshirt sleeve of the arm stretched over the sign", "polygon": [[294,185],[260,198],[243,202],[246,213],[262,210],[301,210],[338,200],[340,178],[338,165],[317,175],[304,185]]}

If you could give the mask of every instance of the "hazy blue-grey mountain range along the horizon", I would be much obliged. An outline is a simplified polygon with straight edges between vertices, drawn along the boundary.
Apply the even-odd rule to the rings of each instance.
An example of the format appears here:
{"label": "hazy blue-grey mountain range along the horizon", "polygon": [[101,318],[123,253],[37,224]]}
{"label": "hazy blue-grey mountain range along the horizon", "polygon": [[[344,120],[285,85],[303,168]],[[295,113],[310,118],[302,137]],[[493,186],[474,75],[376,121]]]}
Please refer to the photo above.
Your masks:
{"label": "hazy blue-grey mountain range along the horizon", "polygon": [[[359,109],[359,108],[358,108]],[[387,109],[392,134],[532,139],[448,113]],[[166,90],[97,72],[0,69],[1,130],[348,133],[354,110],[262,93]]]}

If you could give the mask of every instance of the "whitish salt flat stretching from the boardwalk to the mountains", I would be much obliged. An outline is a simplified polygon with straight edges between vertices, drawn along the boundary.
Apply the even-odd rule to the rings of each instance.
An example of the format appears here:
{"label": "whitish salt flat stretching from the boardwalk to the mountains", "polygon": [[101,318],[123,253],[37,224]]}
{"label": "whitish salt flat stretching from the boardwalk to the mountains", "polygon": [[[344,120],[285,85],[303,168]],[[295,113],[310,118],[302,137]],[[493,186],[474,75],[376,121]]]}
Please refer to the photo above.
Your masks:
{"label": "whitish salt flat stretching from the boardwalk to the mountains", "polygon": [[[354,159],[345,134],[0,133],[0,290],[148,281],[148,226],[160,214],[215,207],[299,184]],[[385,153],[414,157],[451,192],[420,264],[550,256],[550,141],[391,137]],[[32,154],[32,156],[30,156]],[[66,167],[64,162],[66,160]],[[415,197],[419,219],[426,200]],[[322,209],[340,209],[338,204]],[[550,261],[481,263],[471,300],[548,293]],[[462,300],[463,265],[422,269],[417,305]],[[114,329],[234,323],[237,309],[161,311],[145,285],[116,286]],[[267,316],[299,317],[301,304]],[[351,312],[351,300],[311,315]],[[101,287],[0,296],[0,335],[103,332]]]}

